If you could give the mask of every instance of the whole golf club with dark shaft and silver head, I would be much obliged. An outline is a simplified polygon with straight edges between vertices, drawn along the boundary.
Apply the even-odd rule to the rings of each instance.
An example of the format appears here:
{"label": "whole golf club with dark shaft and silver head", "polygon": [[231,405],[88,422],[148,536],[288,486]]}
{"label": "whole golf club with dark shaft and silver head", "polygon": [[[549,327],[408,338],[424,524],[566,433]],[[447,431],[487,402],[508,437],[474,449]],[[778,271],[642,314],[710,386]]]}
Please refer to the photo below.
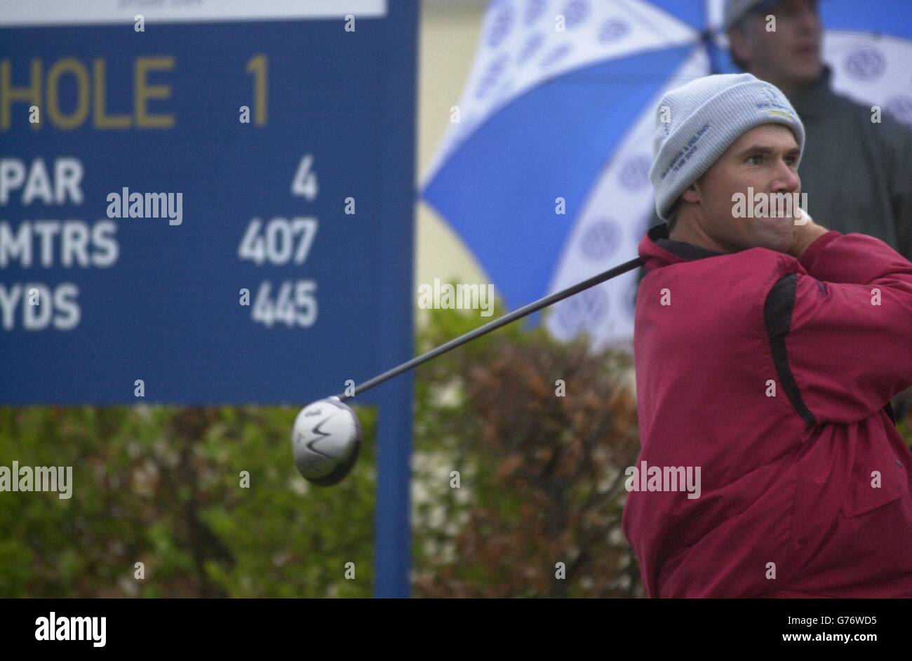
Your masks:
{"label": "whole golf club with dark shaft and silver head", "polygon": [[355,411],[344,402],[356,395],[378,386],[389,378],[395,377],[412,367],[417,367],[431,358],[440,356],[457,346],[464,345],[476,337],[490,333],[503,325],[507,325],[523,316],[528,316],[548,305],[578,294],[590,287],[596,286],[625,274],[627,271],[642,265],[639,257],[615,266],[604,273],[597,274],[574,284],[566,289],[544,296],[528,305],[503,315],[493,321],[479,326],[474,330],[456,337],[427,353],[416,356],[402,363],[398,367],[370,378],[364,383],[356,385],[350,394],[340,393],[330,398],[318,399],[308,404],[297,414],[295,427],[292,431],[292,447],[295,453],[295,464],[301,474],[318,486],[331,486],[343,480],[355,465],[358,459],[358,449],[361,444],[361,427]]}

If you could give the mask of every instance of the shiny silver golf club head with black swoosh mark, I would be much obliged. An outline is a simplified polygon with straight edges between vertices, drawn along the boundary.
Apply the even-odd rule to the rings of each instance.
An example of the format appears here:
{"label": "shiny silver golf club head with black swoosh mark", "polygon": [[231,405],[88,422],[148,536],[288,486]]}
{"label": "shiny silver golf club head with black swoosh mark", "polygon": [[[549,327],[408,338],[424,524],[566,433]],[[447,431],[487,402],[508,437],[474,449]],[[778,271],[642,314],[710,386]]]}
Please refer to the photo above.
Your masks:
{"label": "shiny silver golf club head with black swoosh mark", "polygon": [[297,470],[307,481],[329,487],[342,481],[358,460],[361,425],[339,398],[318,399],[297,414],[291,438]]}

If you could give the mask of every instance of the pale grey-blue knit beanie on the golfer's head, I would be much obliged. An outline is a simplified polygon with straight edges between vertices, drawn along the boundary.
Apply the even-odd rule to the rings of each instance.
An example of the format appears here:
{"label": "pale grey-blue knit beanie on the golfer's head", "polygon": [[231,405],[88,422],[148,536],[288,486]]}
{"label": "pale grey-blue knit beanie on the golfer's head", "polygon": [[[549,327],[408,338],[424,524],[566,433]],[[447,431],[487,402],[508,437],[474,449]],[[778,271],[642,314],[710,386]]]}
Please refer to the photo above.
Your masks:
{"label": "pale grey-blue knit beanie on the golfer's head", "polygon": [[800,163],[804,126],[776,86],[751,74],[718,74],[667,92],[658,102],[649,170],[658,217],[668,221],[680,194],[735,140],[762,124],[792,129]]}

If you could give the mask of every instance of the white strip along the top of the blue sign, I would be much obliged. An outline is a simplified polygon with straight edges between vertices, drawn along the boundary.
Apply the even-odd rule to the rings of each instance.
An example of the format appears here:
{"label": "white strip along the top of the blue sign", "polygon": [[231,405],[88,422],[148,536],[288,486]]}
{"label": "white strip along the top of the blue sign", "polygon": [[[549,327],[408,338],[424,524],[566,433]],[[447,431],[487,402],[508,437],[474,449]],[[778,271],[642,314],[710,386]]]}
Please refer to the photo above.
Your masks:
{"label": "white strip along the top of the blue sign", "polygon": [[264,21],[387,15],[387,0],[0,0],[0,27]]}

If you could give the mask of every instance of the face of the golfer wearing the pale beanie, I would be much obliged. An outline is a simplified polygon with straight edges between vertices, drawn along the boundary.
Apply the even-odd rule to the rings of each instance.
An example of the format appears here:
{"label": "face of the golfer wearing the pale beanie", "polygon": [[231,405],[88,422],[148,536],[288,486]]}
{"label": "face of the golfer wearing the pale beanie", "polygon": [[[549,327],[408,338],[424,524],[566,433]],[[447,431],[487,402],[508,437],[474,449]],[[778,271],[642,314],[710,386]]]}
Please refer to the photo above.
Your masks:
{"label": "face of the golfer wearing the pale beanie", "polygon": [[732,197],[742,193],[751,204],[757,193],[800,193],[798,156],[792,130],[781,124],[763,124],[742,135],[681,196],[697,205],[691,204],[696,213],[690,215],[701,225],[699,233],[726,253],[755,247],[787,251],[797,208],[786,218],[736,218]]}

